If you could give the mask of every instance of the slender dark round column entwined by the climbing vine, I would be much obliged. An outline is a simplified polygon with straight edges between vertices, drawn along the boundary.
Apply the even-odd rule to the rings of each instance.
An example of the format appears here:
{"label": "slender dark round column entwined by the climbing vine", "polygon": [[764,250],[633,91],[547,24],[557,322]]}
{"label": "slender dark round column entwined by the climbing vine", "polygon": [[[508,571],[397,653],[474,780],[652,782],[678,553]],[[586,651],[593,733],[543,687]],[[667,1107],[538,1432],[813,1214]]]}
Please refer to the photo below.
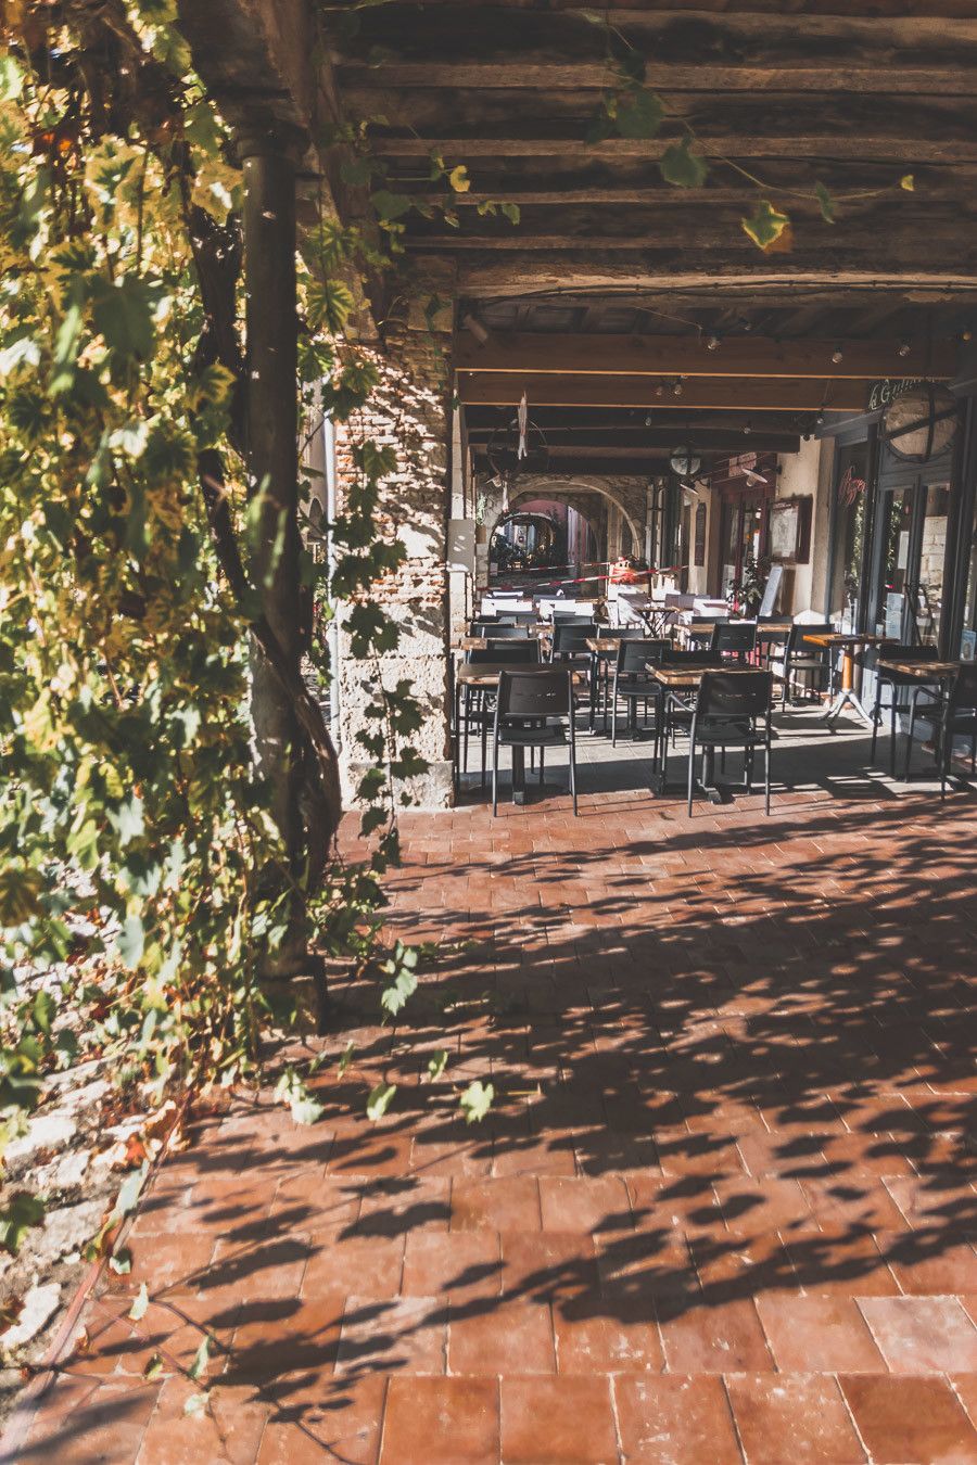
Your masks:
{"label": "slender dark round column entwined by the climbing vine", "polygon": [[[299,398],[296,365],[296,148],[275,127],[240,133],[245,170],[246,440],[249,492],[264,495],[253,579],[289,672],[299,675]],[[272,815],[293,876],[300,875],[300,737],[293,697],[258,646],[252,652],[252,721],[258,766],[272,790]],[[289,872],[268,872],[284,889]],[[296,902],[268,976],[305,967],[305,913]]]}

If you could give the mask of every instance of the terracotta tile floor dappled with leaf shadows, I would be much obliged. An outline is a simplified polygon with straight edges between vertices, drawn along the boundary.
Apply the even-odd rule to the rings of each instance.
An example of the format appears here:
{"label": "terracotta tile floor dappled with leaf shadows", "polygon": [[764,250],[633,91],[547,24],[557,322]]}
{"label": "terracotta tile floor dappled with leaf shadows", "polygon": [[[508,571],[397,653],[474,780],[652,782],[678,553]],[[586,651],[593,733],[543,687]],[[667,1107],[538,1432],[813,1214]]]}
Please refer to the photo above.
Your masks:
{"label": "terracotta tile floor dappled with leaf shadows", "polygon": [[770,819],[598,744],[576,820],[409,816],[410,1021],[338,987],[321,1124],[201,1125],[19,1459],[977,1462],[977,804],[792,727]]}

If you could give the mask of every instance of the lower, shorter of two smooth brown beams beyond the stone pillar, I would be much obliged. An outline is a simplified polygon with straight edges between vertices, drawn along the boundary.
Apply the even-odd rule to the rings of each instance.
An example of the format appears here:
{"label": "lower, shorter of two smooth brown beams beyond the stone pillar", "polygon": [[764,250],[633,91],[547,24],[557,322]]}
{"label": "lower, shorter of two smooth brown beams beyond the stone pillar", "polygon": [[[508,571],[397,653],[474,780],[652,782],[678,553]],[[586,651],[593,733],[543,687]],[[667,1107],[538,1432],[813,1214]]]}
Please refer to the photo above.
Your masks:
{"label": "lower, shorter of two smooth brown beams beyond the stone pillar", "polygon": [[686,382],[681,398],[666,390],[656,396],[647,377],[558,377],[510,375],[507,372],[458,372],[461,403],[514,406],[526,393],[530,406],[644,407],[649,412],[737,409],[740,412],[819,412],[832,407],[863,410],[869,400],[867,381],[775,381],[696,377]]}

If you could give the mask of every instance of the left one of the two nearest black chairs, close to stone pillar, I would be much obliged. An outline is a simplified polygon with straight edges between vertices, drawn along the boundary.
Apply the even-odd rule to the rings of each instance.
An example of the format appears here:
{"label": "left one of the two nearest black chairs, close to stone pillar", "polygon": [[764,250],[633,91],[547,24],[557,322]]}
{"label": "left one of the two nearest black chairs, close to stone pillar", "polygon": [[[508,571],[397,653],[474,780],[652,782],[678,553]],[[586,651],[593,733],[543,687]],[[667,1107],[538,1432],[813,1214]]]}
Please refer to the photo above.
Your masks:
{"label": "left one of the two nearest black chairs, close to stone pillar", "polygon": [[492,813],[498,813],[498,750],[513,749],[524,772],[526,749],[539,749],[539,782],[548,747],[570,749],[570,793],[577,813],[577,735],[574,728],[573,671],[546,667],[540,671],[502,671],[495,696],[492,727]]}

